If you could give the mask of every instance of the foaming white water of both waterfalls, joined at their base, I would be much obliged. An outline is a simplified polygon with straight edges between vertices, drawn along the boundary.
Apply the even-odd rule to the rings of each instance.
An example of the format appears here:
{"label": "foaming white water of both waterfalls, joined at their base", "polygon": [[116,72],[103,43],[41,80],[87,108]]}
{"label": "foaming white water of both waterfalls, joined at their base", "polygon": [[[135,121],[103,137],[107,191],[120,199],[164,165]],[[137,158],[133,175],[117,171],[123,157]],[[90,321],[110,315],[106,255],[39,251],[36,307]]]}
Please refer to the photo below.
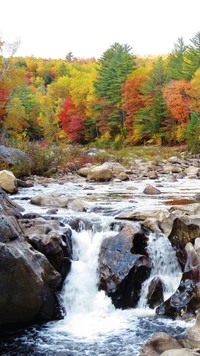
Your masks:
{"label": "foaming white water of both waterfalls, joined at their base", "polygon": [[[138,318],[154,315],[147,308],[146,294],[151,279],[159,276],[165,284],[165,295],[173,293],[180,281],[180,267],[168,239],[160,234],[150,234],[148,252],[153,263],[150,278],[143,284],[138,308],[116,310],[111,299],[103,291],[98,291],[98,256],[105,236],[114,236],[104,217],[101,232],[82,230],[73,232],[73,261],[71,271],[65,281],[63,304],[67,314],[54,324],[54,331],[65,332],[73,337],[94,340],[102,335],[117,335],[134,323],[137,329]],[[95,229],[94,229],[95,230]]]}

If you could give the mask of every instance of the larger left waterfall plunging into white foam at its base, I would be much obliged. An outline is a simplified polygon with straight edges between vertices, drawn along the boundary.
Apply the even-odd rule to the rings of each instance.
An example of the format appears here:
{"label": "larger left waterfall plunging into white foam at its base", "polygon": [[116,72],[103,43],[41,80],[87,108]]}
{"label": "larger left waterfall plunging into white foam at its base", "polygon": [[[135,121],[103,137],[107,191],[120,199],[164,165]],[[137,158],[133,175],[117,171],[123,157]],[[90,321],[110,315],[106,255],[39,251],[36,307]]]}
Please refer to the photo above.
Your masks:
{"label": "larger left waterfall plunging into white foam at its base", "polygon": [[111,299],[98,290],[101,242],[105,237],[116,235],[116,231],[110,230],[110,223],[111,219],[104,217],[100,232],[94,225],[92,230],[86,231],[83,226],[80,232],[72,233],[73,261],[62,295],[66,316],[57,323],[58,331],[91,338],[125,327]]}

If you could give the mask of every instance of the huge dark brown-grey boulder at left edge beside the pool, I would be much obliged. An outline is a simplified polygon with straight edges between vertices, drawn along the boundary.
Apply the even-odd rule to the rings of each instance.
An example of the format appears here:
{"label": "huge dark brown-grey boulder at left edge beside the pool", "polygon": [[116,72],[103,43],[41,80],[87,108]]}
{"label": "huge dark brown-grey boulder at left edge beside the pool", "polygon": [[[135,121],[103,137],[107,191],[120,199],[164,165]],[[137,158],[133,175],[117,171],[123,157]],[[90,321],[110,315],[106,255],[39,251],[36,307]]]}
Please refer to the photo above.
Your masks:
{"label": "huge dark brown-grey boulder at left edge beside the pool", "polygon": [[[7,221],[8,223],[8,221]],[[16,221],[17,224],[17,221]],[[9,231],[15,231],[10,221]],[[5,234],[1,230],[0,235]],[[0,324],[46,322],[61,318],[55,290],[61,276],[22,232],[0,242]]]}

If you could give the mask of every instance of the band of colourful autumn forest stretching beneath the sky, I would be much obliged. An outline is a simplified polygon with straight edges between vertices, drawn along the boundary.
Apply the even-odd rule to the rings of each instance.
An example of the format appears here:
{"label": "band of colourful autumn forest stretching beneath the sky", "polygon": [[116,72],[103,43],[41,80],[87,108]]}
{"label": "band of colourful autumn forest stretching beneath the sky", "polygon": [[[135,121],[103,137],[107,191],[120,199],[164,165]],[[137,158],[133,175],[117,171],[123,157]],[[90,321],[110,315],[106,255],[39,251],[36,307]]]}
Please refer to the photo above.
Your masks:
{"label": "band of colourful autumn forest stretching beneath the sky", "polygon": [[17,57],[19,45],[0,40],[1,138],[200,151],[200,32],[157,57],[119,43],[99,59]]}

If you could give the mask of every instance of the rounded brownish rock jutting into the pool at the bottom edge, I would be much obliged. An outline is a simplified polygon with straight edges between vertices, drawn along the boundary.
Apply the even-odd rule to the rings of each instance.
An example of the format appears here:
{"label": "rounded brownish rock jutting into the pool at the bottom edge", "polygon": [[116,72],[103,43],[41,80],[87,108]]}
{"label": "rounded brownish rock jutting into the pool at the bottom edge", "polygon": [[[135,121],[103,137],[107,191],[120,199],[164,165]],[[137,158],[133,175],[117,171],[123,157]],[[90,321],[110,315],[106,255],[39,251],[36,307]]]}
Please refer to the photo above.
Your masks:
{"label": "rounded brownish rock jutting into the pool at the bottom edge", "polygon": [[183,349],[183,347],[174,337],[159,332],[142,347],[140,356],[160,356],[164,351],[170,349],[177,350]]}

